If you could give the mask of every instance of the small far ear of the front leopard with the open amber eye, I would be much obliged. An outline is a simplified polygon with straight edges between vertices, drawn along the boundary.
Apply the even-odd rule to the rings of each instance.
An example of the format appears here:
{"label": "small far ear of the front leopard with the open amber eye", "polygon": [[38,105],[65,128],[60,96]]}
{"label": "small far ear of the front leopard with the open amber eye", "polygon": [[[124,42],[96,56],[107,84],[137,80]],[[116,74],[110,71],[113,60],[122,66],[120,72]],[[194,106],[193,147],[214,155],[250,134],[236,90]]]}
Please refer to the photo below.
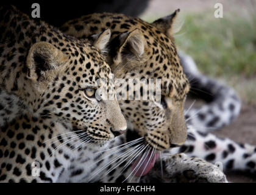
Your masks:
{"label": "small far ear of the front leopard with the open amber eye", "polygon": [[100,32],[99,34],[91,35],[88,38],[88,40],[91,41],[91,44],[93,44],[94,47],[102,51],[106,48],[108,41],[110,40],[110,37],[111,37],[111,31],[110,29],[107,29]]}

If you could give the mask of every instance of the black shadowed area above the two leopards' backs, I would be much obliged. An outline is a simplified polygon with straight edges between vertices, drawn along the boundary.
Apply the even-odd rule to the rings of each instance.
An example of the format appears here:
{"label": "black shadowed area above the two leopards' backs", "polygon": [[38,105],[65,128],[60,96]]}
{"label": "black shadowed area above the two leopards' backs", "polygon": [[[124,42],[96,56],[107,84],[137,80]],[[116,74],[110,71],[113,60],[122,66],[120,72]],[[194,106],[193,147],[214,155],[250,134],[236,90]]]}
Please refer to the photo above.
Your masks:
{"label": "black shadowed area above the two leopards' backs", "polygon": [[[15,5],[19,10],[31,16],[33,3],[40,4],[40,18],[54,26],[61,26],[69,19],[96,12],[124,13],[130,16],[140,15],[150,0],[91,0],[91,1],[7,1],[4,4]],[[2,4],[2,2],[1,2]]]}

